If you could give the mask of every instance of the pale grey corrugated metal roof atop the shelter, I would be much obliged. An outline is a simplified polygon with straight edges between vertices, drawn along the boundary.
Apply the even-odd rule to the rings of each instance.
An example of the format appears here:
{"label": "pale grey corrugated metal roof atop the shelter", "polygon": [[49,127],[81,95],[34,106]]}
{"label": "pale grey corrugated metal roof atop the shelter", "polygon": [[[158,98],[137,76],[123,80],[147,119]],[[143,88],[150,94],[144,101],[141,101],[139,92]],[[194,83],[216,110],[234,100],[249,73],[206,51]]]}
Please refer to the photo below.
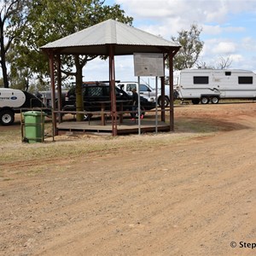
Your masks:
{"label": "pale grey corrugated metal roof atop the shelter", "polygon": [[115,44],[115,55],[143,52],[162,52],[159,47],[179,48],[180,45],[154,36],[116,20],[106,20],[80,32],[45,44],[41,49],[55,49],[61,54],[108,55],[108,44]]}

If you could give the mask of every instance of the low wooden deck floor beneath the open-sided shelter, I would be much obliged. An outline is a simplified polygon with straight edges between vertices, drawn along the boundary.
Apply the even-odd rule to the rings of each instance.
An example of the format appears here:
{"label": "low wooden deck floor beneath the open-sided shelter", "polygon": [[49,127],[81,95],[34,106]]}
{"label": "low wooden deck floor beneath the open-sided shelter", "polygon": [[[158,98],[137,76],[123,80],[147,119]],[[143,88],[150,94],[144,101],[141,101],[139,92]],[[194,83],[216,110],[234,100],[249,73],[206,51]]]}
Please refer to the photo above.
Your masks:
{"label": "low wooden deck floor beneath the open-sided shelter", "polygon": [[[119,121],[118,121],[119,122]],[[112,123],[111,120],[108,120],[106,125],[101,124],[100,119],[84,121],[84,122],[76,122],[76,121],[63,121],[60,124],[57,124],[58,134],[63,134],[67,132],[108,132],[112,133]],[[132,121],[131,119],[124,119],[121,124],[117,125],[117,133],[121,134],[129,134],[129,133],[138,133],[138,120]],[[155,120],[153,119],[142,119],[141,120],[141,132],[154,132],[155,128]],[[157,131],[170,131],[170,125],[165,122],[158,121]]]}

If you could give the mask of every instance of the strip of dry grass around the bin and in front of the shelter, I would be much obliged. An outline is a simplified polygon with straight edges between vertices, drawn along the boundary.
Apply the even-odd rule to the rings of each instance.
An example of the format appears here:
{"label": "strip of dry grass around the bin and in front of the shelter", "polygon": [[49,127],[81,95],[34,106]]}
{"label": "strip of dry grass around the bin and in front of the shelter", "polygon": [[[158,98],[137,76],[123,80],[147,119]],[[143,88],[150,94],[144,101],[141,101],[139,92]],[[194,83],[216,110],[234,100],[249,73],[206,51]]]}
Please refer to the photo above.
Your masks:
{"label": "strip of dry grass around the bin and in front of the shelter", "polygon": [[[20,130],[12,130],[1,133],[0,141],[1,163],[18,160],[32,161],[33,159],[49,160],[52,158],[72,158],[89,153],[106,154],[112,150],[130,148],[164,147],[170,143],[186,140],[191,137],[211,135],[217,131],[212,125],[198,124],[191,120],[180,120],[175,125],[175,132],[144,134],[141,136],[130,135],[112,137],[99,135],[57,136],[55,142],[52,138],[45,139],[44,143],[22,143]],[[45,124],[45,131],[49,134],[50,125]]]}

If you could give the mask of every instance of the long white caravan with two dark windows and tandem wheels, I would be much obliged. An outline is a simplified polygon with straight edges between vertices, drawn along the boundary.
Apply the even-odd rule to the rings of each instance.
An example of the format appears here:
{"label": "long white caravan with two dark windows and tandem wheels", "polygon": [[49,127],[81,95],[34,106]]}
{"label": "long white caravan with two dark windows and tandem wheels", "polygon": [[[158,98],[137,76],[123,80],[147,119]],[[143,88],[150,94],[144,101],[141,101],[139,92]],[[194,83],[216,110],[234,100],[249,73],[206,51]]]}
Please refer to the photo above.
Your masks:
{"label": "long white caravan with two dark windows and tandem wheels", "polygon": [[173,85],[177,98],[193,104],[256,98],[256,74],[241,69],[183,69],[173,73]]}

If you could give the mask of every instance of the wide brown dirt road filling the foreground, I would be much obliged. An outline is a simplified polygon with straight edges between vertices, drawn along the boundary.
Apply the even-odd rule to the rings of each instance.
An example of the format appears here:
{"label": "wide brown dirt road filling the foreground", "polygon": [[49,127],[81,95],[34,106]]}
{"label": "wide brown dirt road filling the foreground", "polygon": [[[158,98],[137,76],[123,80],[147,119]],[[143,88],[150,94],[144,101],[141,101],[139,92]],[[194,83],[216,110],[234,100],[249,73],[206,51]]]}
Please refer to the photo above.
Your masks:
{"label": "wide brown dirt road filling the foreground", "polygon": [[220,131],[123,137],[137,149],[32,175],[13,163],[26,175],[0,181],[0,255],[255,255],[255,116],[256,103],[180,106],[176,120]]}

